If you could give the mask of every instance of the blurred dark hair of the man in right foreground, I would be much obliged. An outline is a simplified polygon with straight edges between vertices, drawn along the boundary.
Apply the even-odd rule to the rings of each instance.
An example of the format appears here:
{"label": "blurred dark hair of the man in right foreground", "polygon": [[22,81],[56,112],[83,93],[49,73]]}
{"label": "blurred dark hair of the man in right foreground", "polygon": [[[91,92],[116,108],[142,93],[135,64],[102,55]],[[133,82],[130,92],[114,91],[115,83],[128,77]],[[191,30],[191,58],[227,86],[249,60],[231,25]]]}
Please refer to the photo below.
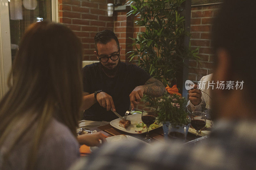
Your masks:
{"label": "blurred dark hair of the man in right foreground", "polygon": [[[244,81],[247,99],[255,100],[256,85],[256,1],[226,0],[212,27],[215,52],[223,48],[230,55],[230,80]],[[216,58],[216,63],[217,57]],[[249,90],[249,91],[248,91]]]}

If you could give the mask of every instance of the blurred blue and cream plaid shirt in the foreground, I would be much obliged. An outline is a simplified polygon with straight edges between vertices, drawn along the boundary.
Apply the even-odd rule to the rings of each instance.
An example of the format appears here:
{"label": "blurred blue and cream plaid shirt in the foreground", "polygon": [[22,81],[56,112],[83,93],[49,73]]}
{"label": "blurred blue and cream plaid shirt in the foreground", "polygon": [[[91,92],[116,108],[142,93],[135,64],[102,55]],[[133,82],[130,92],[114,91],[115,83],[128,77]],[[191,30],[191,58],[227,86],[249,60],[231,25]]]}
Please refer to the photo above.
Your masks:
{"label": "blurred blue and cream plaid shirt in the foreground", "polygon": [[255,122],[215,123],[211,137],[193,146],[172,141],[152,145],[112,143],[72,169],[255,169]]}

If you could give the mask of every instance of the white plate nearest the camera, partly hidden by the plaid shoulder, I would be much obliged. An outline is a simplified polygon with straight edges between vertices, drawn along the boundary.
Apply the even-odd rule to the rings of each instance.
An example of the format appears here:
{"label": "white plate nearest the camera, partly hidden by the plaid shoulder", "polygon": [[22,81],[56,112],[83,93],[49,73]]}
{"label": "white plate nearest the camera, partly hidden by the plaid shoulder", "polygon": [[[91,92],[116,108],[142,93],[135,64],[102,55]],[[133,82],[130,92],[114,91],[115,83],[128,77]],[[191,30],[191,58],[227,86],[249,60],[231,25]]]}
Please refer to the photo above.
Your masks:
{"label": "white plate nearest the camera, partly hidden by the plaid shoulder", "polygon": [[[112,137],[107,137],[106,138],[108,143],[115,143],[115,142],[122,142],[122,141],[133,141],[136,143],[144,143],[144,144],[148,144],[147,142],[144,142],[140,139],[137,139],[135,137],[129,136],[129,135],[116,135],[116,136],[112,136]],[[99,147],[97,146],[93,146],[90,147],[91,152],[95,152]]]}

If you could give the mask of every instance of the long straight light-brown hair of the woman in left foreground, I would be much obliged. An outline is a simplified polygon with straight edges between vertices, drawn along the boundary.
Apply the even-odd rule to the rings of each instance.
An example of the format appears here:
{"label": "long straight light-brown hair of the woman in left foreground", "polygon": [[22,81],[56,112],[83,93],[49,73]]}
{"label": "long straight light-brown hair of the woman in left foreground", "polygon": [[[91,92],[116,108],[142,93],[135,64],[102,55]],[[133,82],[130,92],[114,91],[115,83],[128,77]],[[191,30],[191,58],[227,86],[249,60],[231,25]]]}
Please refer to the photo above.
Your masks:
{"label": "long straight light-brown hair of the woman in left foreground", "polygon": [[44,21],[25,32],[9,77],[10,90],[0,103],[0,147],[20,118],[35,115],[32,123],[20,127],[8,150],[9,154],[37,122],[27,169],[33,169],[40,139],[52,118],[76,134],[82,102],[81,62],[81,42],[66,26]]}

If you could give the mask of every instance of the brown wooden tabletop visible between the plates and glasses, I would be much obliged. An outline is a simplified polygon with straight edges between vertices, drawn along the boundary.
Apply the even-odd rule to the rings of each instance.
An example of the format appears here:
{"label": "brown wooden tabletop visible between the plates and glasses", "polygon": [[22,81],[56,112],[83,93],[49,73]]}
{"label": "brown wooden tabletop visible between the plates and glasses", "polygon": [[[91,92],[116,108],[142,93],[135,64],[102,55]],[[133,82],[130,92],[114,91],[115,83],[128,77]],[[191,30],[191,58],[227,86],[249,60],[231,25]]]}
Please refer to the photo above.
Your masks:
{"label": "brown wooden tabletop visible between the plates and glasses", "polygon": [[[112,127],[110,124],[108,125],[104,125],[104,126],[100,126],[97,128],[92,128],[90,130],[97,130],[98,132],[101,132],[102,134],[106,135],[107,137],[111,137],[111,136],[116,136],[116,135],[130,135],[132,137],[136,137],[140,140],[142,140],[144,137],[146,137],[147,133],[144,134],[131,134],[131,133],[126,133],[124,131],[121,131],[119,129],[116,129],[114,127]],[[163,132],[163,128],[159,127],[157,129],[151,130],[149,131],[149,136],[153,138],[153,140],[155,141],[163,141],[164,140],[164,132]],[[189,133],[187,135],[187,139],[186,142],[194,140],[196,138],[195,134]]]}

